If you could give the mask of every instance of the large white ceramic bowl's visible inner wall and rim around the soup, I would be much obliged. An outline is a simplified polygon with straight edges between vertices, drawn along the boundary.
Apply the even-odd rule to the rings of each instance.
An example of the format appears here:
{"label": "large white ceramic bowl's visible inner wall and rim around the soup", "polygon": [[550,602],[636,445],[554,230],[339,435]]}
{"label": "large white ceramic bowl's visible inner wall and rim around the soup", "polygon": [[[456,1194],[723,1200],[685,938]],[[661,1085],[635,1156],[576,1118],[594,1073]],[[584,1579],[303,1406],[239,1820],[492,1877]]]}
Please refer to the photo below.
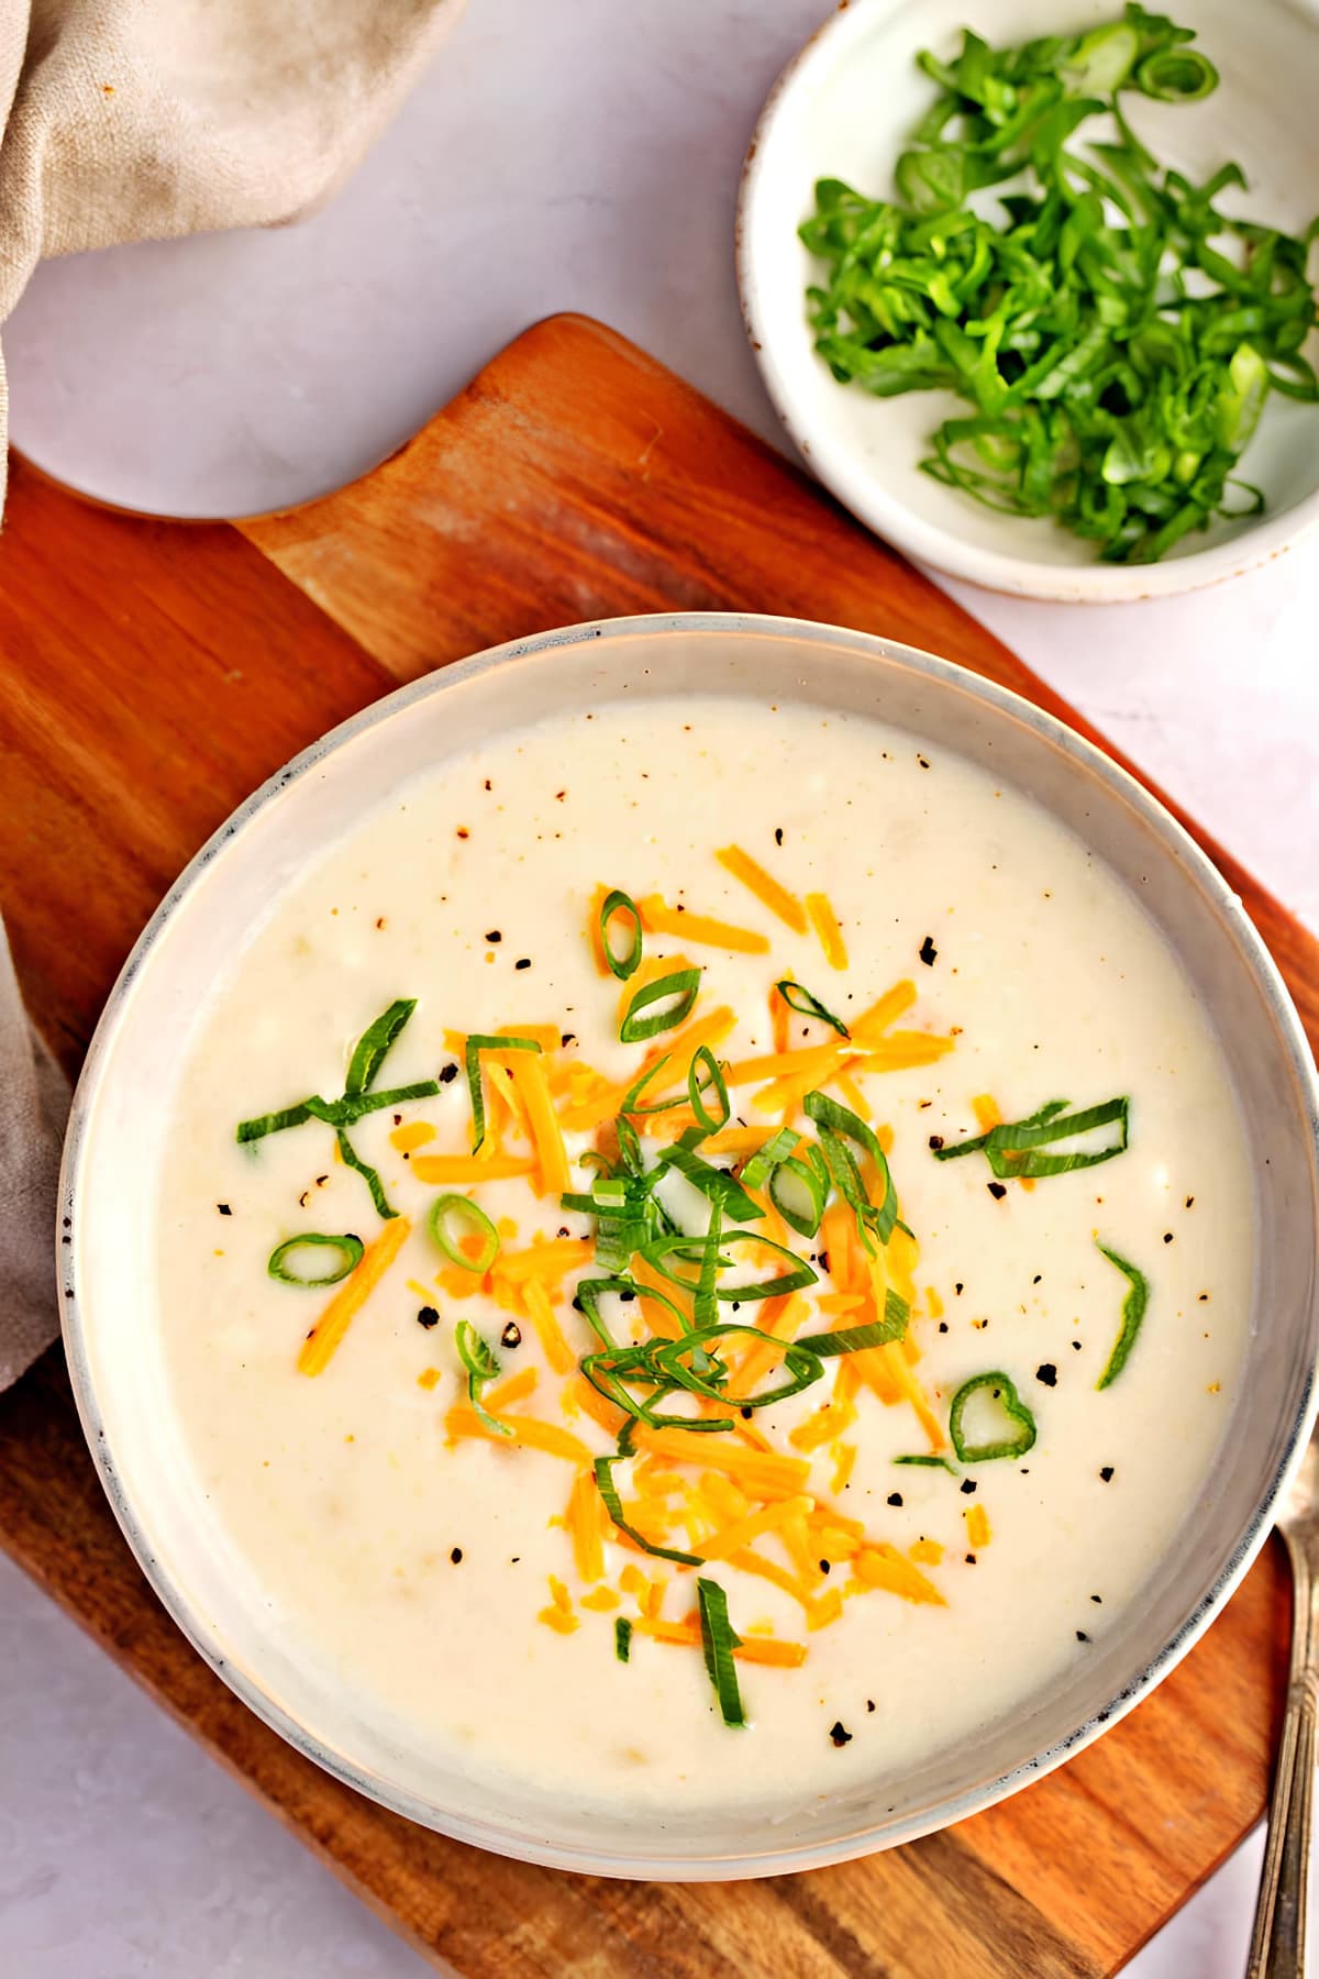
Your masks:
{"label": "large white ceramic bowl's visible inner wall and rim around the soup", "polygon": [[[208,1506],[170,1403],[154,1300],[152,1189],[182,1057],[216,976],[271,902],[397,784],[508,726],[591,699],[809,699],[937,736],[1070,825],[1141,902],[1218,1025],[1258,1178],[1254,1350],[1222,1457],[1161,1571],[1056,1690],[902,1779],[736,1817],[552,1799],[437,1767],[307,1668],[269,1625]],[[910,1840],[1003,1799],[1123,1716],[1194,1643],[1262,1546],[1311,1425],[1319,1348],[1319,1090],[1258,934],[1187,833],[1088,742],[971,673],[864,633],[676,615],[542,633],[405,687],[336,728],[206,845],[132,952],[97,1029],[65,1148],[61,1308],[73,1387],[111,1504],[152,1587],[267,1724],[384,1805],[467,1842],[613,1876],[777,1874]]]}

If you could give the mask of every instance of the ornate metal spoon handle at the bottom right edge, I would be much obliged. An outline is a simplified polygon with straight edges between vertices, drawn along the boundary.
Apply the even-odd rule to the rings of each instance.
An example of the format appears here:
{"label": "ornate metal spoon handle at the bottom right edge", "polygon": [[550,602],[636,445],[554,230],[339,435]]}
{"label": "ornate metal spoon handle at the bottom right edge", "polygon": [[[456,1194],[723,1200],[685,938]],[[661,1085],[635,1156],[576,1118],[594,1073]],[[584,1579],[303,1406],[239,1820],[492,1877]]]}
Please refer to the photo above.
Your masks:
{"label": "ornate metal spoon handle at the bottom right edge", "polygon": [[1319,1585],[1305,1544],[1291,1554],[1291,1678],[1277,1747],[1274,1799],[1248,1979],[1305,1979],[1305,1912],[1319,1720]]}

